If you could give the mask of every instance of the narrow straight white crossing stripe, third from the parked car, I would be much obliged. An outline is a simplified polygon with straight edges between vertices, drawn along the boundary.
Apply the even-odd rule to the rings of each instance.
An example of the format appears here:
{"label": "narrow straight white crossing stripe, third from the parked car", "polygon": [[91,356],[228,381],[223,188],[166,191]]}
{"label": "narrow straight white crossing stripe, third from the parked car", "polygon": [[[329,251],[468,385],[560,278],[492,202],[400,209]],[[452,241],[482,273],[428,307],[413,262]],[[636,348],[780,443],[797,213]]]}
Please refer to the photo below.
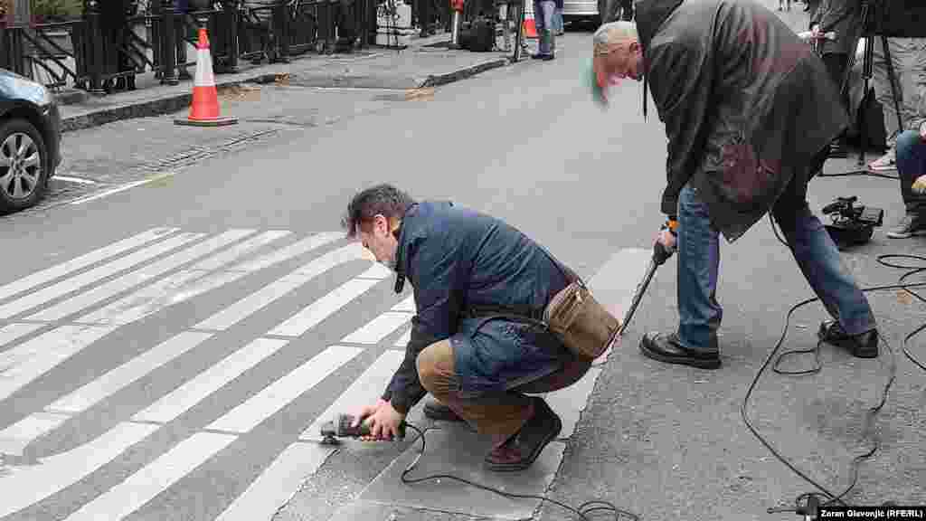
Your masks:
{"label": "narrow straight white crossing stripe, third from the parked car", "polygon": [[112,297],[119,295],[119,293],[122,293],[127,289],[131,289],[132,287],[138,286],[144,282],[156,278],[157,276],[168,273],[170,270],[174,270],[180,267],[182,264],[193,261],[194,259],[202,257],[219,248],[228,246],[232,242],[241,239],[243,236],[251,235],[253,233],[254,230],[230,230],[222,235],[218,235],[204,242],[195,244],[191,248],[183,249],[180,252],[171,255],[167,259],[157,261],[154,264],[122,275],[119,278],[104,284],[103,286],[96,286],[90,291],[67,299],[59,304],[56,304],[55,306],[52,306],[51,308],[46,308],[43,311],[39,311],[31,315],[29,318],[31,320],[42,321],[61,320],[70,314],[82,311],[102,300],[111,299]]}

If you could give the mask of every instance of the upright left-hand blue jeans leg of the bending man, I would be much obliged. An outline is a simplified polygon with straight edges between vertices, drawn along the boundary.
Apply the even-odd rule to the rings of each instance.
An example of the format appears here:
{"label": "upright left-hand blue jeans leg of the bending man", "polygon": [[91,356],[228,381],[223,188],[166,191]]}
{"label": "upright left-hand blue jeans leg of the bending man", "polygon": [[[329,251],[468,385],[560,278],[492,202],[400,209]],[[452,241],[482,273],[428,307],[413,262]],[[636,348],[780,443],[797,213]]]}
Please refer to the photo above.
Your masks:
{"label": "upright left-hand blue jeans leg of the bending man", "polygon": [[679,194],[678,234],[679,341],[688,349],[718,349],[720,234],[691,185]]}

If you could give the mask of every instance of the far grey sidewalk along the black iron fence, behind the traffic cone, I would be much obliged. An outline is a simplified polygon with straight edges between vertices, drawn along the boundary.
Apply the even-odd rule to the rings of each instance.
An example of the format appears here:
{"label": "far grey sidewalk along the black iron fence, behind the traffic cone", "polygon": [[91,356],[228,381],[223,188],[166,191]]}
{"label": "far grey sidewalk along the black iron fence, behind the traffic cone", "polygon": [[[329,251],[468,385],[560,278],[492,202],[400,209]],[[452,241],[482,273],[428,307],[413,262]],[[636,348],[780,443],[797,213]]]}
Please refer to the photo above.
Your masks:
{"label": "far grey sidewalk along the black iron fence, behind the traffic cone", "polygon": [[[291,85],[416,89],[452,83],[511,63],[510,52],[477,53],[445,48],[449,33],[422,38],[406,49],[369,48],[351,54],[292,57],[291,63],[239,64],[239,72],[217,74],[219,90],[242,83],[273,83],[286,78]],[[192,71],[192,70],[191,70]],[[188,108],[193,81],[177,85],[156,83],[153,72],[141,75],[131,92],[94,96],[83,92],[58,95],[64,132],[91,128],[111,121],[169,114]]]}

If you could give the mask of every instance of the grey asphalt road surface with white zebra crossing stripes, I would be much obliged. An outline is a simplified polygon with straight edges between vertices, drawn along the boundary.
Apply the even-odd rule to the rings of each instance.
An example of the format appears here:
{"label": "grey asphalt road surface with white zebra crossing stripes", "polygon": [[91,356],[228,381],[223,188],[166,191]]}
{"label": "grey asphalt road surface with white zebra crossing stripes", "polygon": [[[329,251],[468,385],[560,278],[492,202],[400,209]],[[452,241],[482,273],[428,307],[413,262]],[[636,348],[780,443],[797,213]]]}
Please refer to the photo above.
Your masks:
{"label": "grey asphalt road surface with white zebra crossing stripes", "polygon": [[[312,438],[344,405],[379,395],[413,310],[410,292],[394,295],[388,273],[340,235],[363,186],[493,213],[604,286],[635,283],[663,219],[664,134],[643,120],[639,83],[622,85],[607,113],[594,108],[579,78],[590,35],[564,40],[553,62],[432,93],[265,86],[227,100],[235,127],[158,118],[68,134],[65,173],[94,184],[62,182],[42,208],[0,223],[0,520],[518,518],[456,485],[405,504],[389,473],[408,442],[332,453]],[[866,177],[815,182],[810,206],[853,194],[889,224],[902,210],[895,182]],[[875,256],[922,246],[879,232],[845,260],[864,285],[891,283],[900,273]],[[564,406],[574,432],[546,451],[549,476],[532,477],[549,497],[614,502],[644,519],[764,520],[793,519],[766,508],[814,490],[740,418],[784,314],[809,288],[767,221],[721,250],[724,367],[669,367],[636,349],[644,331],[676,320],[669,261],[620,349]],[[897,349],[921,304],[871,299]],[[815,346],[821,318],[816,304],[796,312],[785,349]],[[819,375],[766,375],[750,418],[841,492],[890,357],[823,347],[820,361]],[[926,503],[924,375],[896,362],[882,447],[850,502]],[[432,471],[452,460],[441,454],[429,449]],[[536,515],[566,518],[557,508]]]}

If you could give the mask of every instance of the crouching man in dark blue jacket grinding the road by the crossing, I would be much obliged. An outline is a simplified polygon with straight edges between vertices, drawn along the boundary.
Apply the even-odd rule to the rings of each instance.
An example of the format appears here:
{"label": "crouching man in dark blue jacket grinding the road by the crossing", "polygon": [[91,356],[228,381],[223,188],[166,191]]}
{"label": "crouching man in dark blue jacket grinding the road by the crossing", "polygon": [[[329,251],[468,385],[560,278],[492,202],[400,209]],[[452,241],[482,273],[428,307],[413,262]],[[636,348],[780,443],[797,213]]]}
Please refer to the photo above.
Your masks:
{"label": "crouching man in dark blue jacket grinding the road by the crossing", "polygon": [[528,394],[568,387],[592,362],[518,316],[540,318],[573,274],[506,222],[450,202],[414,201],[387,184],[358,193],[343,224],[394,270],[397,290],[407,278],[417,308],[405,361],[358,421],[374,438],[397,436],[430,392],[437,401],[426,404],[428,417],[466,421],[491,436],[491,470],[529,467],[562,423]]}

